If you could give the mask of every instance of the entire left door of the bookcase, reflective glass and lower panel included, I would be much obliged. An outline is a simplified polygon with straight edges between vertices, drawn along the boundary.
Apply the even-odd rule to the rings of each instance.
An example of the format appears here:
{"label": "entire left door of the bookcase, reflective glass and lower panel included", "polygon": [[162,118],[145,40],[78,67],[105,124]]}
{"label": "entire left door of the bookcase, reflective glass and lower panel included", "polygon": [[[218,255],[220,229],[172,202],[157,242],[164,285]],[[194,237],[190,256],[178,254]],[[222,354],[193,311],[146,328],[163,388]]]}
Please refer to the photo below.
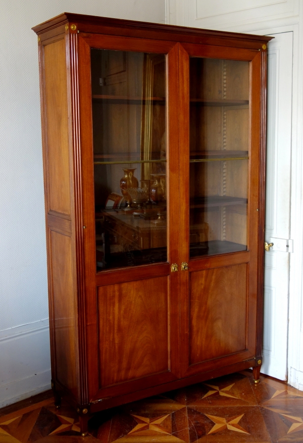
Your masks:
{"label": "entire left door of the bookcase, reflective glass and lower panel included", "polygon": [[178,46],[79,34],[89,401],[179,378]]}

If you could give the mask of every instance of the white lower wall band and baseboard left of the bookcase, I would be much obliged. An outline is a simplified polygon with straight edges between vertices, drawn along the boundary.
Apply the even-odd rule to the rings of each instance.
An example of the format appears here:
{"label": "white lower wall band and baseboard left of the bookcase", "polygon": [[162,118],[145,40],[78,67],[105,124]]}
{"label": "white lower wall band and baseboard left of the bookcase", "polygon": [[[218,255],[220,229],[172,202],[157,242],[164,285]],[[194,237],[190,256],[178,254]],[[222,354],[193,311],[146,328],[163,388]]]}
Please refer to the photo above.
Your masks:
{"label": "white lower wall band and baseboard left of the bookcase", "polygon": [[0,331],[0,408],[50,388],[48,319]]}

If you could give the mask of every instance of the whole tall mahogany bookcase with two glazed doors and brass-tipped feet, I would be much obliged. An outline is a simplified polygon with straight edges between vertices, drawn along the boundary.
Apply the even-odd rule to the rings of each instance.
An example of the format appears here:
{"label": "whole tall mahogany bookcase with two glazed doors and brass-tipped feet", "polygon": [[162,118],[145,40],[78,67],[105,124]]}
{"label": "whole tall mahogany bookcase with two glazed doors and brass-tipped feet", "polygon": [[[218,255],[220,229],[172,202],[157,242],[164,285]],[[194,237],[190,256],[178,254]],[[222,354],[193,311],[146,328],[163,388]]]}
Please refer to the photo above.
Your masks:
{"label": "whole tall mahogany bookcase with two glazed doors and brass-tipped feet", "polygon": [[64,13],[38,35],[52,387],[95,412],[262,364],[272,37]]}

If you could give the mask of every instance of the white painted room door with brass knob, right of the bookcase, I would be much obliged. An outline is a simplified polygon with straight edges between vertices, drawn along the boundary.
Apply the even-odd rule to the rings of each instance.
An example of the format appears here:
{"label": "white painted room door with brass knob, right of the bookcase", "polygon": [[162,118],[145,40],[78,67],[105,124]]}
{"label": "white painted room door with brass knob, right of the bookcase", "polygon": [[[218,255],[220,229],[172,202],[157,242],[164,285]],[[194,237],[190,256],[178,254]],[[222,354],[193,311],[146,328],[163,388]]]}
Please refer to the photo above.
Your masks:
{"label": "white painted room door with brass knob, right of the bookcase", "polygon": [[281,252],[283,241],[278,238],[288,240],[290,233],[292,32],[271,35],[275,38],[268,46],[265,240],[274,246],[265,253],[261,372],[286,380],[289,252]]}

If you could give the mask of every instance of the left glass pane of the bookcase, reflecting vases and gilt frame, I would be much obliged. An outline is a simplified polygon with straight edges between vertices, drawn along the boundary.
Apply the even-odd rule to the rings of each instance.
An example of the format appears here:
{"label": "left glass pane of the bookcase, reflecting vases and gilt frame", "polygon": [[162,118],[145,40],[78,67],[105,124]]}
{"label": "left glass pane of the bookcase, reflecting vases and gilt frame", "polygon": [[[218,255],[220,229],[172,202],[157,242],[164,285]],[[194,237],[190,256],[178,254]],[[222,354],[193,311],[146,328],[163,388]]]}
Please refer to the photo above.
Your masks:
{"label": "left glass pane of the bookcase, reflecting vases and gilt frame", "polygon": [[166,56],[91,50],[97,271],[167,261]]}

